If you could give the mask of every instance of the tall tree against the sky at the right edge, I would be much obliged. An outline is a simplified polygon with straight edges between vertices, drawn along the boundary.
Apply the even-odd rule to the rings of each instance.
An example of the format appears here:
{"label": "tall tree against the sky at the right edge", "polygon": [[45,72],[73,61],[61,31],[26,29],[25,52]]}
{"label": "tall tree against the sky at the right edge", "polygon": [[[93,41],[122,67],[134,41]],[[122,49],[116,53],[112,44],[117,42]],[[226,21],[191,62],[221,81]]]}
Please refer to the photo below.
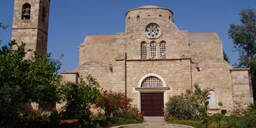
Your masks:
{"label": "tall tree against the sky at the right edge", "polygon": [[233,39],[234,48],[240,55],[239,67],[250,68],[250,86],[254,89],[254,99],[256,96],[256,14],[254,9],[242,9],[240,11],[240,21],[242,24],[230,24],[228,31],[229,38]]}

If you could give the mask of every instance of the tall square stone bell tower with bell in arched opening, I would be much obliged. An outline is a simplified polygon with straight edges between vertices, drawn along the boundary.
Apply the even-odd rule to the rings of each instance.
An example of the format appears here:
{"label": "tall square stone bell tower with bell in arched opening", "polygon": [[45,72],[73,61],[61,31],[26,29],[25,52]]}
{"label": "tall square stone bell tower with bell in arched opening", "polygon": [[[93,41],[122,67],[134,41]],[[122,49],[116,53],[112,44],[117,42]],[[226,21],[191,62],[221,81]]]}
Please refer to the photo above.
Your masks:
{"label": "tall square stone bell tower with bell in arched opening", "polygon": [[[50,0],[15,0],[11,38],[38,55],[47,53]],[[27,52],[25,59],[32,56]]]}

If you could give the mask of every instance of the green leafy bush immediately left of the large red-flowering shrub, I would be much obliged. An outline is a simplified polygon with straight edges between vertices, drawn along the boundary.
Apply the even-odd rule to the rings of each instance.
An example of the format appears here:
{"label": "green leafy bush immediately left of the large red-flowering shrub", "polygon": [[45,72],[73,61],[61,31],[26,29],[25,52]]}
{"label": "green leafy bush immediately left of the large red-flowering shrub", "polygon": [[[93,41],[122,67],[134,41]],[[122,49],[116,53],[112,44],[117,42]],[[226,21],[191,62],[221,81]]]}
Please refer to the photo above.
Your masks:
{"label": "green leafy bush immediately left of the large red-flowering shrub", "polygon": [[96,103],[100,87],[96,79],[88,75],[88,84],[81,78],[78,84],[66,82],[61,87],[63,100],[67,101],[62,112],[64,118],[90,119],[90,107]]}

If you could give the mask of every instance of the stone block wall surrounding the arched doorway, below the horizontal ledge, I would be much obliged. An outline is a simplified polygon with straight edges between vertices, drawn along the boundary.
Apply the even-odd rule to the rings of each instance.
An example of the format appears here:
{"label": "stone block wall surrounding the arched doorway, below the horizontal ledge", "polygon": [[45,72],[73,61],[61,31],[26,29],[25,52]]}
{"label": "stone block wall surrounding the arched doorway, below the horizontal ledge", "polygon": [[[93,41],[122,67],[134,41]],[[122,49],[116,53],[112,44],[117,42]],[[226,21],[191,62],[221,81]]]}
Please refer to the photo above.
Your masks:
{"label": "stone block wall surrounding the arched doorway, below the horizontal ledge", "polygon": [[[181,60],[162,61],[127,61],[127,96],[133,98],[133,104],[137,105],[138,93],[133,93],[134,88],[138,88],[138,82],[147,73],[156,73],[163,77],[167,87],[171,88],[168,97],[185,93],[191,89],[191,84],[183,77]],[[184,83],[184,84],[183,84]]]}

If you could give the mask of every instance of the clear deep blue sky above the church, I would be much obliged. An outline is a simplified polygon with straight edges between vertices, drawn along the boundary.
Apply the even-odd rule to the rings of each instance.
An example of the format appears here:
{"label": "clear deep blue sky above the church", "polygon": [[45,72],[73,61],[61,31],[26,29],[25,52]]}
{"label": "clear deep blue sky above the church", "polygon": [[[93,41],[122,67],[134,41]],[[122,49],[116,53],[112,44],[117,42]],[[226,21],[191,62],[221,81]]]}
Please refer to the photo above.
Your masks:
{"label": "clear deep blue sky above the church", "polygon": [[[233,42],[228,38],[231,23],[240,24],[241,8],[256,9],[255,0],[52,0],[49,14],[48,52],[61,59],[62,71],[73,71],[79,64],[77,46],[86,35],[108,35],[125,31],[126,11],[144,5],[168,8],[174,12],[174,23],[179,30],[216,32],[222,40],[231,64],[238,62]],[[10,24],[0,30],[0,46],[11,39],[14,0],[2,0],[0,20]]]}

